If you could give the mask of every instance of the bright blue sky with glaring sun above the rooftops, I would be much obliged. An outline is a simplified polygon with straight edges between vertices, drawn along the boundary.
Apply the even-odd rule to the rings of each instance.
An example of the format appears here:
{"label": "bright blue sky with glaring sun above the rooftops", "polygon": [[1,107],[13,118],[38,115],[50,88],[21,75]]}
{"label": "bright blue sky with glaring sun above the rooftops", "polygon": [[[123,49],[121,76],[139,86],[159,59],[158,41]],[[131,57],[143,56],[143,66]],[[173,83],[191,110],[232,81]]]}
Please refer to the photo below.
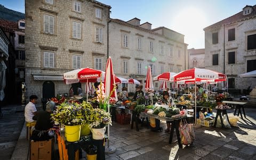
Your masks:
{"label": "bright blue sky with glaring sun above the rooftops", "polygon": [[[38,0],[36,0],[38,1]],[[255,0],[98,0],[110,5],[110,18],[129,21],[139,18],[152,28],[166,27],[185,35],[188,49],[204,48],[204,28],[238,12]],[[0,0],[8,9],[25,13],[24,0]]]}

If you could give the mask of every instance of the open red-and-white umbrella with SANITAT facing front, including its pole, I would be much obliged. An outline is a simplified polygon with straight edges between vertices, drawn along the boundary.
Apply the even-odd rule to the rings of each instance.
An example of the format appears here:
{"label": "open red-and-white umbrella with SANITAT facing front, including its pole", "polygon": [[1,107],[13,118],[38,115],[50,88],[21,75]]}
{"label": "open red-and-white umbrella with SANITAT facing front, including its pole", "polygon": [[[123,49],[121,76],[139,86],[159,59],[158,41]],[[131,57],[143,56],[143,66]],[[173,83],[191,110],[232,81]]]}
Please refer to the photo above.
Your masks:
{"label": "open red-and-white umbrella with SANITAT facing front, including its pole", "polygon": [[217,71],[192,68],[181,71],[173,76],[174,82],[185,81],[195,83],[195,124],[196,124],[196,82],[221,82],[226,81],[227,76]]}

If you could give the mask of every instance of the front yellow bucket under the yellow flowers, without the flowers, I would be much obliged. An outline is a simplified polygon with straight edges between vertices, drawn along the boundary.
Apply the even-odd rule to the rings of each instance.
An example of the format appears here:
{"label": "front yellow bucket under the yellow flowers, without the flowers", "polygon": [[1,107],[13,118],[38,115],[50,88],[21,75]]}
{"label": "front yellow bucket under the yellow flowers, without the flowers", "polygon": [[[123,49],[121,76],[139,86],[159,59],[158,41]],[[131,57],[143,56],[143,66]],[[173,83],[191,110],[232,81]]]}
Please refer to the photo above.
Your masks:
{"label": "front yellow bucket under the yellow flowers, without the flowers", "polygon": [[75,142],[80,139],[81,125],[65,125],[65,136],[67,141]]}

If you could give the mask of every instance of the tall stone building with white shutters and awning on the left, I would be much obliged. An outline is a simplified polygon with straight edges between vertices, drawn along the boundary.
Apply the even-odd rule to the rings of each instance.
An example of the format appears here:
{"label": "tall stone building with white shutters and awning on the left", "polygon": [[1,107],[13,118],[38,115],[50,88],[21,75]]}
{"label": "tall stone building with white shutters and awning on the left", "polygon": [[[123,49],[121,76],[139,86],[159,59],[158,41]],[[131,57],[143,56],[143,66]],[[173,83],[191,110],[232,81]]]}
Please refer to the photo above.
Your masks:
{"label": "tall stone building with white shutters and awning on the left", "polygon": [[27,99],[68,93],[66,71],[105,70],[110,6],[89,0],[26,0],[25,6]]}

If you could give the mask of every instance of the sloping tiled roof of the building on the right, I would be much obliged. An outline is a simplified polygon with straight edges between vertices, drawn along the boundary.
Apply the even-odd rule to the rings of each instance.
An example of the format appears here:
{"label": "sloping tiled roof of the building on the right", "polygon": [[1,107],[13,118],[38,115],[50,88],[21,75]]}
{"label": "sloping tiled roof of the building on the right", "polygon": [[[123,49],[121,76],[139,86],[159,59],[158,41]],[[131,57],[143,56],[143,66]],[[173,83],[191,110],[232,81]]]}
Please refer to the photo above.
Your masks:
{"label": "sloping tiled roof of the building on the right", "polygon": [[229,18],[226,18],[226,19],[223,19],[222,21],[219,21],[217,23],[214,23],[213,25],[211,26],[208,26],[205,29],[209,29],[209,28],[214,28],[214,27],[218,27],[218,26],[221,26],[223,24],[226,24],[226,23],[231,23],[231,22],[235,22],[235,21],[238,21],[238,20],[242,20],[242,19],[245,19],[245,18],[251,18],[251,17],[255,17],[256,16],[256,5],[252,6],[252,13],[251,14],[247,14],[247,15],[243,15],[243,11],[235,14],[235,15],[232,15],[231,17]]}

